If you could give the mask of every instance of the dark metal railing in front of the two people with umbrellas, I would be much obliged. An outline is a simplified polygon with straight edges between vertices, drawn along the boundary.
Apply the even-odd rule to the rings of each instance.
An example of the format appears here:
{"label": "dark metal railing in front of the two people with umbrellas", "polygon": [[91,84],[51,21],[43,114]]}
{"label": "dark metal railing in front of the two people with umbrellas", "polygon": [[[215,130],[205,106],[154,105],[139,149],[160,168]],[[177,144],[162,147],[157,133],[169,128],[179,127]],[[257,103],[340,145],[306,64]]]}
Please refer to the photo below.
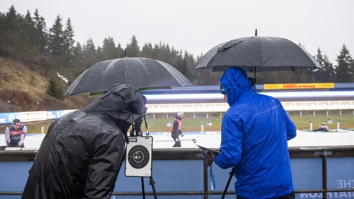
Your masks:
{"label": "dark metal railing in front of the two people with umbrellas", "polygon": [[[0,161],[33,161],[37,151],[1,151]],[[196,157],[198,149],[154,149],[153,160],[203,160]],[[322,159],[322,189],[295,189],[295,193],[323,193],[324,199],[330,192],[353,192],[354,188],[327,188],[327,158],[354,157],[354,146],[336,147],[289,147],[290,158],[321,158]],[[156,192],[157,195],[222,195],[223,191],[208,190],[208,171],[203,164],[204,189],[201,191],[166,191]],[[235,191],[226,194],[236,194]],[[22,195],[22,192],[0,192],[0,195]],[[113,192],[112,195],[142,195],[142,192]],[[153,192],[145,192],[153,195]]]}

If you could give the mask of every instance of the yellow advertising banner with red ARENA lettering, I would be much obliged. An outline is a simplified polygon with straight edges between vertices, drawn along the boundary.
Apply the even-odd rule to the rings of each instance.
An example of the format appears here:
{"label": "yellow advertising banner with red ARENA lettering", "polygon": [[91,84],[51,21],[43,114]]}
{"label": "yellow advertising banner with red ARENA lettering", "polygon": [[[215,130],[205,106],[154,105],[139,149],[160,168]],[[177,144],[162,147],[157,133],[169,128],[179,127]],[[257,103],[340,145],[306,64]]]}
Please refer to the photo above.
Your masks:
{"label": "yellow advertising banner with red ARENA lettering", "polygon": [[333,89],[334,83],[264,84],[264,90],[271,89]]}

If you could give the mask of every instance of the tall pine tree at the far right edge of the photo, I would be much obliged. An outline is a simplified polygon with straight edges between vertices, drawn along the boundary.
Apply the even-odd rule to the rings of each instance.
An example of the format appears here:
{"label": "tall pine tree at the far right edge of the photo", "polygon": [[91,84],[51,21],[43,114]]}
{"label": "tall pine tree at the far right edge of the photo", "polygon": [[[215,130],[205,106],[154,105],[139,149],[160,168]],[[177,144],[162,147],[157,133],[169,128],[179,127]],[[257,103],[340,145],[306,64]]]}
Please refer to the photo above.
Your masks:
{"label": "tall pine tree at the far right edge of the photo", "polygon": [[347,46],[345,44],[343,44],[340,53],[341,54],[338,55],[336,59],[336,61],[338,62],[338,65],[335,68],[336,82],[353,82],[354,61],[352,56],[349,54],[349,50],[347,49]]}

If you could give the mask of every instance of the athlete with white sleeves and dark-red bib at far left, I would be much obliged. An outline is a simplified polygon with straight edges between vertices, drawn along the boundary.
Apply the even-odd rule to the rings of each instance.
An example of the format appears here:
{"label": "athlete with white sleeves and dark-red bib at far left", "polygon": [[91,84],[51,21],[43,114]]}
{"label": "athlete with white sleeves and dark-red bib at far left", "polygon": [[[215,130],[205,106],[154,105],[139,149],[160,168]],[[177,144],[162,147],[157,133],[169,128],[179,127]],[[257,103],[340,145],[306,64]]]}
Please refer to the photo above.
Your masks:
{"label": "athlete with white sleeves and dark-red bib at far left", "polygon": [[5,144],[7,147],[24,148],[24,137],[27,133],[27,127],[21,124],[19,119],[14,119],[11,125],[5,130]]}

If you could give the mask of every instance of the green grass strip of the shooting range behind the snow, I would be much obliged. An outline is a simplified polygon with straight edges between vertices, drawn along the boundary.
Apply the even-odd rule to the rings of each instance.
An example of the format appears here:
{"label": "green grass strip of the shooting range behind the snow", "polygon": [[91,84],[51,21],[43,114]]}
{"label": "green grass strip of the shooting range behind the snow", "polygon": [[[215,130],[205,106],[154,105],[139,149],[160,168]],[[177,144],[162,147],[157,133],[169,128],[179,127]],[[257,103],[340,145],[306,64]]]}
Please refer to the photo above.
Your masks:
{"label": "green grass strip of the shooting range behind the snow", "polygon": [[[169,118],[166,118],[166,114],[155,114],[155,119],[153,119],[153,114],[147,114],[147,123],[150,128],[150,132],[170,132],[171,127],[166,126],[168,121],[173,122],[173,114],[169,114]],[[219,113],[209,114],[206,118],[206,113],[197,113],[196,117],[193,119],[193,114],[185,113],[182,119],[182,132],[188,131],[200,131],[201,123],[204,124],[204,131],[220,131],[221,120]],[[313,116],[312,111],[303,112],[302,117],[298,111],[289,112],[291,120],[294,122],[298,130],[310,129],[310,121],[313,123],[313,129],[318,128],[318,124],[325,122],[327,124],[328,118],[331,118],[333,124],[327,124],[329,129],[337,129],[337,120],[339,120],[339,128],[341,129],[353,129],[354,128],[354,116],[353,110],[342,111],[342,116],[339,116],[338,111],[330,111],[329,116],[327,116],[326,111],[316,111],[316,116]],[[212,126],[207,126],[207,121],[212,121]],[[28,133],[41,133],[41,126],[44,126],[44,131],[47,132],[50,120],[37,121],[30,123],[23,123],[27,126]],[[0,126],[0,133],[4,133],[7,125]],[[145,125],[142,125],[142,130],[145,132]]]}

